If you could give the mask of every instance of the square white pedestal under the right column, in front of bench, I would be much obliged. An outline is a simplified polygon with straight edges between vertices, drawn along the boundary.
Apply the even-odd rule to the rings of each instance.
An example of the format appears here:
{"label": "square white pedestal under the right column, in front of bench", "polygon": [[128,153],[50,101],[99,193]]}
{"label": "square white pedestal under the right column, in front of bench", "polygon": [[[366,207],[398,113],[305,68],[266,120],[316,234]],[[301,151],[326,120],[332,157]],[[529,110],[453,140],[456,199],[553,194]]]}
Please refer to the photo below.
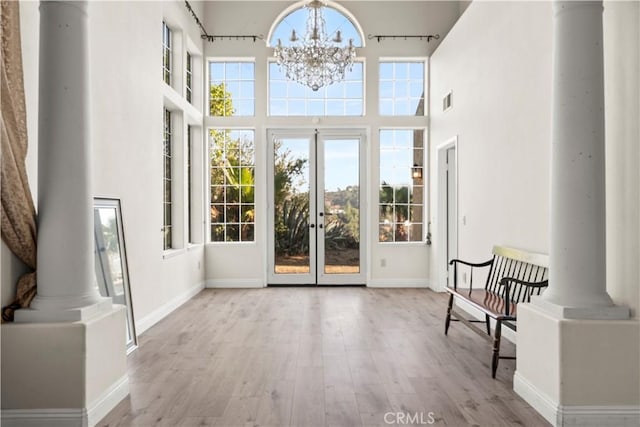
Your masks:
{"label": "square white pedestal under the right column, in front of bench", "polygon": [[514,390],[554,426],[640,424],[640,321],[518,304]]}

